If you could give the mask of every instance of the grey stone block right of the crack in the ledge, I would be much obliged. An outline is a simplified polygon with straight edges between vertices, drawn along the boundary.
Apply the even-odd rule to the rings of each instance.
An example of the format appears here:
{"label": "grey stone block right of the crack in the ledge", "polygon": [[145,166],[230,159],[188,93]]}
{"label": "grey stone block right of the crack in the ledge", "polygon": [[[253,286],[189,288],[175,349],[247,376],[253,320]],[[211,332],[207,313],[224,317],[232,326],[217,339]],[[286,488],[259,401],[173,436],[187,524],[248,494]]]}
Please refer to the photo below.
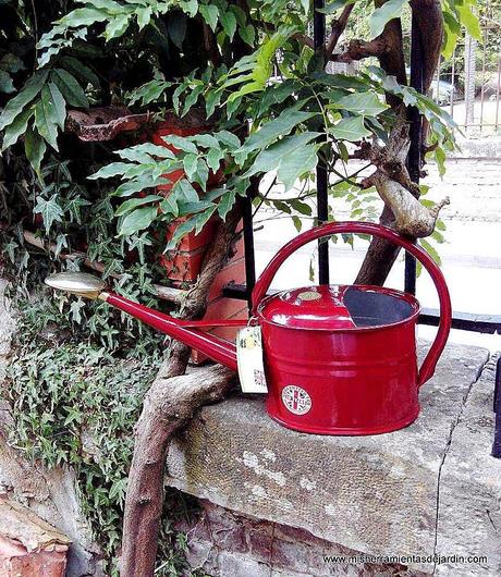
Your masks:
{"label": "grey stone block right of the crack in the ledge", "polygon": [[440,469],[437,518],[439,553],[487,555],[488,562],[438,565],[439,576],[501,575],[501,459],[490,455],[496,360],[486,365],[454,426]]}

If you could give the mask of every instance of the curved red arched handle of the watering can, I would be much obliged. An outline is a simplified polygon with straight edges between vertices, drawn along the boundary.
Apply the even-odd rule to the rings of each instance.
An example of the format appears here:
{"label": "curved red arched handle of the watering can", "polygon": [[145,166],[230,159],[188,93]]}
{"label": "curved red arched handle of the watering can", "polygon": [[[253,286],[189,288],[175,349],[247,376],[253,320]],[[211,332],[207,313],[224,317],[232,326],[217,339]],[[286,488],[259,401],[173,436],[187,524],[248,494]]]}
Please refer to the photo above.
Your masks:
{"label": "curved red arched handle of the watering can", "polygon": [[378,236],[379,238],[390,241],[416,257],[429,272],[440,299],[440,323],[433,344],[428,351],[421,368],[419,369],[417,382],[418,386],[420,386],[433,376],[437,361],[445,346],[452,320],[451,297],[442,271],[428,253],[388,226],[381,226],[380,224],[375,224],[372,222],[329,222],[300,234],[283,246],[262,271],[262,274],[253,291],[253,314],[256,312],[259,303],[265,298],[271,281],[286,258],[311,241],[316,241],[322,236],[342,233],[369,234],[370,236]]}

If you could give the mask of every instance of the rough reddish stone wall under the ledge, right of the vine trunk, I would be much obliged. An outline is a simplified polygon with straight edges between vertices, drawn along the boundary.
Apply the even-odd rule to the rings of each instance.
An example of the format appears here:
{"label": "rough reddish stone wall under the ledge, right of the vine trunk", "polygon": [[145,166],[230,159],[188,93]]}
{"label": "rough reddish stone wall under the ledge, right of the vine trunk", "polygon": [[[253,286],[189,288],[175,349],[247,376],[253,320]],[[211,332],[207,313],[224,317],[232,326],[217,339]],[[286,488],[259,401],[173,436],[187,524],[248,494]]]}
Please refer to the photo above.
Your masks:
{"label": "rough reddish stone wall under the ledge, right of the vine trunk", "polygon": [[191,566],[212,577],[425,576],[402,565],[364,563],[356,551],[304,529],[237,515],[208,501],[201,501],[195,524],[180,528],[188,533]]}

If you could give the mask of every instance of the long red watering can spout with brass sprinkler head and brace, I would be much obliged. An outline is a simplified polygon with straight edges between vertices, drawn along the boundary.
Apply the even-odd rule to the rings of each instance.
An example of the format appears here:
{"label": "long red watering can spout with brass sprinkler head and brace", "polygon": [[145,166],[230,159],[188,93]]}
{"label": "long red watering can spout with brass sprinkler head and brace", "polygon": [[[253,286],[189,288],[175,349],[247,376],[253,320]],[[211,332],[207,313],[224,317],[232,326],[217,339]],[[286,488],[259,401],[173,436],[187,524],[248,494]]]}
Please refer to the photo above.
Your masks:
{"label": "long red watering can spout with brass sprinkler head and brace", "polygon": [[184,321],[158,312],[151,308],[134,303],[129,298],[106,291],[106,284],[93,274],[80,272],[60,272],[46,279],[46,284],[52,288],[64,291],[86,298],[98,298],[109,305],[127,312],[150,327],[182,341],[192,348],[196,348],[217,363],[225,365],[236,371],[236,347],[233,343],[208,334],[199,329],[215,326],[244,326],[246,321]]}

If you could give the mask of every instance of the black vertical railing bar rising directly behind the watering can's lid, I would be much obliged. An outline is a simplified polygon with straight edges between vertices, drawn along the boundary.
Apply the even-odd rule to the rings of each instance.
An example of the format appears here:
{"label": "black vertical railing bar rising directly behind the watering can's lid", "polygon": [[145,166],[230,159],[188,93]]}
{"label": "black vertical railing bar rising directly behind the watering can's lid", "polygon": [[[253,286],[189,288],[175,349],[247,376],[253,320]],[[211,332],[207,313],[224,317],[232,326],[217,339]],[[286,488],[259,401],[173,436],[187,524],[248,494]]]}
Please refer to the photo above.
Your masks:
{"label": "black vertical railing bar rising directly behind the watering can's lid", "polygon": [[[318,12],[323,8],[323,0],[314,0],[314,46],[320,52],[326,41],[326,15]],[[327,165],[321,156],[317,164],[317,220],[318,224],[327,222],[329,218]],[[318,282],[329,284],[329,243],[318,241]]]}

